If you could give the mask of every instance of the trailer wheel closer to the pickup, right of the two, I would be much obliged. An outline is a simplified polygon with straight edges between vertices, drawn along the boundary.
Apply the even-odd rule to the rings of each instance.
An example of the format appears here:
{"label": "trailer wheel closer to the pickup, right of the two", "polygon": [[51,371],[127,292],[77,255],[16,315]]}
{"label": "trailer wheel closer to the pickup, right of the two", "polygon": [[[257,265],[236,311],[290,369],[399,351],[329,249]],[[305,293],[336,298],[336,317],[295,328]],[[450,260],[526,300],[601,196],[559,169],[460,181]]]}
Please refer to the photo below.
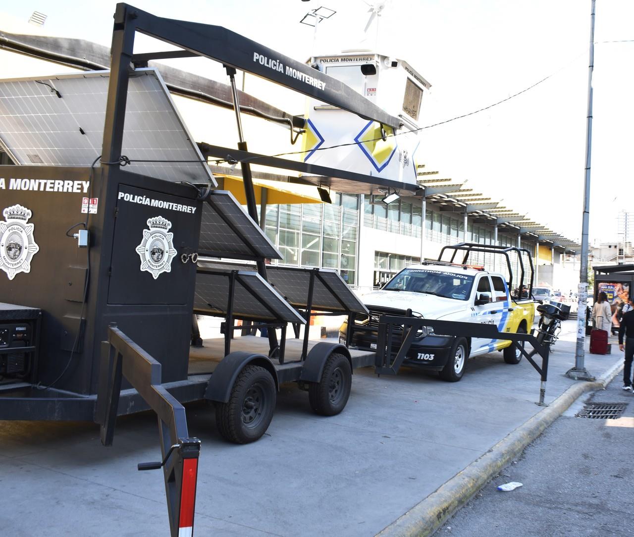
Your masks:
{"label": "trailer wheel closer to the pickup, right of the two", "polygon": [[343,354],[328,356],[320,382],[308,387],[308,401],[311,408],[322,416],[334,416],[344,410],[352,387],[353,373],[350,363]]}

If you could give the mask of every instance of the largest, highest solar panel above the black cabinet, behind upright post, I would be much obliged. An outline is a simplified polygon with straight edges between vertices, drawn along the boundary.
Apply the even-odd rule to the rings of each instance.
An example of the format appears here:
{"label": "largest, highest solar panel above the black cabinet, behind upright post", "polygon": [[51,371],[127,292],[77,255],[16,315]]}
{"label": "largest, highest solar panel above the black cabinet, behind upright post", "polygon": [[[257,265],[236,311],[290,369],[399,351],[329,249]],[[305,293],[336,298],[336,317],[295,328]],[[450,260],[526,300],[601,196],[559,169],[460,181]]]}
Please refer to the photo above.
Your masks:
{"label": "largest, highest solar panel above the black cabinet, behind upright post", "polygon": [[[110,72],[0,81],[0,145],[17,164],[88,166],[101,154]],[[165,181],[216,186],[160,74],[131,74],[122,154],[127,169]]]}

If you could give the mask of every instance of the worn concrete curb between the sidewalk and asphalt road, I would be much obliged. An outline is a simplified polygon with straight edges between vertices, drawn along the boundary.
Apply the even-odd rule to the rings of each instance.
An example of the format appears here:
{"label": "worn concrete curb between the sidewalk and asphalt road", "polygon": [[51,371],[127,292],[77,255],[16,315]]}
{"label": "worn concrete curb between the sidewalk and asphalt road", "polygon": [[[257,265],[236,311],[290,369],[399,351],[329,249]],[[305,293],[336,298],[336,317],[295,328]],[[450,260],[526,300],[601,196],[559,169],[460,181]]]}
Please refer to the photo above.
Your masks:
{"label": "worn concrete curb between the sidewalk and asphalt road", "polygon": [[550,406],[544,408],[480,458],[458,472],[443,486],[385,527],[377,537],[427,537],[462,507],[493,477],[521,455],[531,442],[586,392],[604,389],[623,368],[619,359],[595,382],[571,385]]}

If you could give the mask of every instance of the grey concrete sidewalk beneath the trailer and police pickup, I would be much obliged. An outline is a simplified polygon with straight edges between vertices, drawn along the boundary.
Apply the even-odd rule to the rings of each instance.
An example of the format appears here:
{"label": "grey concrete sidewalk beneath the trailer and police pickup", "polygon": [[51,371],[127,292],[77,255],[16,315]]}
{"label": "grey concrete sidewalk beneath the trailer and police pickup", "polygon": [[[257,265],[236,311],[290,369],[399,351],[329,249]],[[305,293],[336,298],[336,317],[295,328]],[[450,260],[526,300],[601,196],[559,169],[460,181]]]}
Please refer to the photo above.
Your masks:
{"label": "grey concrete sidewalk beneath the trailer and police pickup", "polygon": [[[548,403],[575,384],[564,377],[575,328],[564,323],[551,355]],[[598,377],[622,360],[617,347],[586,354],[586,367]],[[266,436],[247,446],[222,441],[212,406],[189,405],[190,434],[202,439],[195,533],[375,535],[540,413],[539,387],[526,360],[507,365],[501,353],[469,361],[455,384],[366,368],[331,418],[282,387]],[[151,413],[119,418],[112,448],[94,424],[0,422],[0,527],[14,536],[167,535],[162,473],[136,471],[159,454]]]}

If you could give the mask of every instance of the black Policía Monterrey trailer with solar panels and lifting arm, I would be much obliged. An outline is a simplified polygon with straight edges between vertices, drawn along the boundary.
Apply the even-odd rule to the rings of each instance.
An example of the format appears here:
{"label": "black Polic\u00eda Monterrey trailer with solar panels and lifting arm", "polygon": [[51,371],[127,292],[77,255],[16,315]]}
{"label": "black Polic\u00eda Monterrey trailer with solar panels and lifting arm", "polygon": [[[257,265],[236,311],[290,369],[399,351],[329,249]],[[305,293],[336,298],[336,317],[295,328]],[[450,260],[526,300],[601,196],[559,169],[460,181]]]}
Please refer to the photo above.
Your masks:
{"label": "black Polic\u00eda Monterrey trailer with solar panels and lifting arm", "polygon": [[[180,49],[135,55],[136,32]],[[316,411],[332,414],[345,406],[352,368],[368,361],[368,356],[351,357],[339,343],[307,349],[306,336],[291,360],[280,348],[285,338],[278,342],[275,330],[269,330],[263,351],[226,354],[223,349],[222,356],[207,360],[209,370],[190,374],[195,296],[226,316],[227,347],[239,339],[232,342],[230,335],[236,329],[233,320],[241,317],[284,330],[289,321],[295,328],[306,324],[320,307],[330,311],[315,298],[318,283],[328,287],[330,276],[309,271],[306,297],[295,296],[295,311],[268,283],[265,259],[280,256],[271,252],[273,245],[255,223],[249,162],[401,185],[249,153],[242,139],[235,69],[380,124],[399,127],[401,121],[341,82],[229,30],[160,18],[127,4],[117,4],[111,53],[109,72],[13,80],[4,86],[11,91],[2,96],[0,142],[20,165],[0,166],[0,300],[25,307],[0,309],[6,313],[1,323],[11,323],[8,344],[0,346],[11,344],[12,351],[22,346],[0,353],[11,356],[0,380],[0,420],[94,420],[102,427],[102,442],[109,444],[117,415],[152,408],[159,416],[163,460],[139,469],[164,468],[176,535],[179,521],[193,526],[200,450],[197,439],[188,435],[181,403],[215,401],[224,408],[219,410],[224,436],[252,441],[268,425],[281,382],[297,382],[309,391]],[[148,60],[190,56],[226,67],[238,150],[205,146],[202,155],[160,74],[144,67]],[[271,69],[273,60],[287,69]],[[11,108],[15,103],[22,108]],[[36,113],[29,114],[29,107],[37,107]],[[37,121],[23,120],[25,114]],[[302,125],[303,119],[295,118],[292,127]],[[206,163],[214,153],[241,162],[249,215],[229,193],[214,190]],[[199,253],[250,259],[257,273],[218,276],[227,282],[224,291],[207,290],[220,295],[220,302],[224,297],[218,309],[209,294],[197,292],[198,278],[211,274],[197,271]],[[347,303],[330,313],[355,313],[358,306],[347,292],[343,298],[337,291]],[[246,309],[235,310],[244,304]],[[253,314],[256,304],[266,314]],[[21,327],[29,333],[22,342]],[[230,402],[237,410],[227,410]],[[191,534],[192,526],[185,526],[183,534]]]}

